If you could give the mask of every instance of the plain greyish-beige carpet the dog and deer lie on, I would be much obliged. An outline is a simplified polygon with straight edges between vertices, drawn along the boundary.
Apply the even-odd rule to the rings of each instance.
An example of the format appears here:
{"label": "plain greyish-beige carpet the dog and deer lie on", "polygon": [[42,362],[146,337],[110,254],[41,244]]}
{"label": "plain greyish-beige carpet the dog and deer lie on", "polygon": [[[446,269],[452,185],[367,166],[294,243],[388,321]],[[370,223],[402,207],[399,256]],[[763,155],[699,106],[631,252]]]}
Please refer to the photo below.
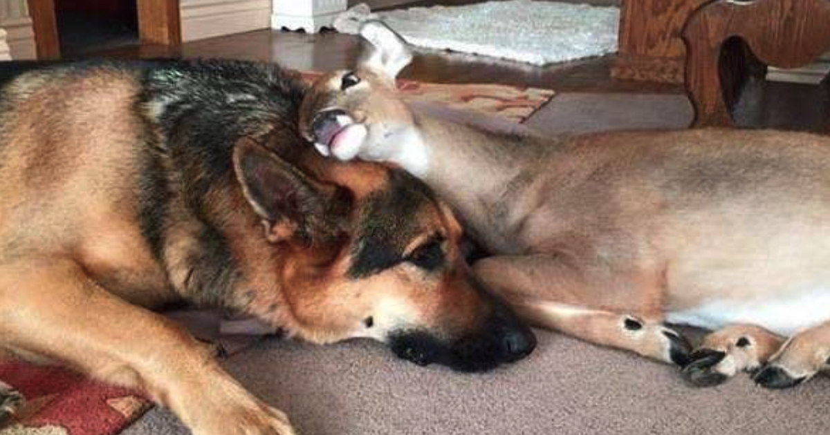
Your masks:
{"label": "plain greyish-beige carpet the dog and deer lie on", "polygon": [[[529,121],[542,131],[682,127],[672,95],[560,94]],[[481,123],[477,119],[477,123]],[[504,127],[504,123],[494,121]],[[539,332],[520,363],[460,375],[395,360],[382,346],[265,341],[227,369],[282,408],[304,435],[820,435],[830,431],[830,382],[770,391],[741,375],[691,389],[674,367]],[[156,408],[128,435],[187,433]]]}

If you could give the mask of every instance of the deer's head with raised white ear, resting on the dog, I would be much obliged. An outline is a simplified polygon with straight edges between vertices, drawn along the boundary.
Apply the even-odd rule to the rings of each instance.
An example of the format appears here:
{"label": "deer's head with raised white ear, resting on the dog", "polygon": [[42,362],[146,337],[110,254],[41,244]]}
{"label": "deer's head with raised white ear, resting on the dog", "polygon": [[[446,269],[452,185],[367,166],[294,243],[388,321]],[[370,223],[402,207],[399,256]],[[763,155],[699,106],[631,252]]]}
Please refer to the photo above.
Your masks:
{"label": "deer's head with raised white ear, resting on the dog", "polygon": [[382,22],[365,22],[360,36],[364,48],[354,69],[323,75],[306,93],[300,131],[324,156],[396,161],[412,153],[417,128],[395,82],[413,56]]}

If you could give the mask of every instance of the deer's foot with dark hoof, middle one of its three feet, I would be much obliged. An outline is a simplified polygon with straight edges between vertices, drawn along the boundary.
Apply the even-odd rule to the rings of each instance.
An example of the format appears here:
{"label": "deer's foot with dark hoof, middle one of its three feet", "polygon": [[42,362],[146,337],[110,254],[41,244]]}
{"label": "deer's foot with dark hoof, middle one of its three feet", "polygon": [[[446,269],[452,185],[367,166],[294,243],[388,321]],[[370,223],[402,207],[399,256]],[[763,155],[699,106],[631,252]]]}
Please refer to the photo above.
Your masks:
{"label": "deer's foot with dark hoof, middle one of its three feet", "polygon": [[741,371],[758,370],[783,342],[783,337],[760,326],[726,326],[706,336],[691,352],[683,377],[698,387],[721,384]]}

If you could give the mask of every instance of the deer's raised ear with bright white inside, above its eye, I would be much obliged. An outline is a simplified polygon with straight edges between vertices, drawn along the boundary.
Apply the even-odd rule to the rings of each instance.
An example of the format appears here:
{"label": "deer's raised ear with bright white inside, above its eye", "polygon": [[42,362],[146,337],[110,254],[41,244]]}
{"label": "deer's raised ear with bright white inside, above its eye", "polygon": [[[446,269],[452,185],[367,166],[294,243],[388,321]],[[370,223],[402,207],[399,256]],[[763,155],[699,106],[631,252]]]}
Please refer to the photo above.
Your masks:
{"label": "deer's raised ear with bright white inside, above its eye", "polygon": [[358,65],[391,80],[413,60],[412,52],[403,37],[378,20],[369,20],[360,26],[364,50]]}

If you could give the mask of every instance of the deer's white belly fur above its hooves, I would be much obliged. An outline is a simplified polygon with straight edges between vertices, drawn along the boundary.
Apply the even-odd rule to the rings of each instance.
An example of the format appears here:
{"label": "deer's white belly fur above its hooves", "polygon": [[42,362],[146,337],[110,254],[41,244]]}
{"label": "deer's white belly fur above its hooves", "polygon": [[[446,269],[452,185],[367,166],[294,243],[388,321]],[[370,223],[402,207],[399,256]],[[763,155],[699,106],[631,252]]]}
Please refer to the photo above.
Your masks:
{"label": "deer's white belly fur above its hooves", "polygon": [[786,297],[710,299],[697,307],[667,312],[666,321],[707,329],[718,329],[730,323],[751,323],[791,336],[796,331],[830,321],[830,288]]}

